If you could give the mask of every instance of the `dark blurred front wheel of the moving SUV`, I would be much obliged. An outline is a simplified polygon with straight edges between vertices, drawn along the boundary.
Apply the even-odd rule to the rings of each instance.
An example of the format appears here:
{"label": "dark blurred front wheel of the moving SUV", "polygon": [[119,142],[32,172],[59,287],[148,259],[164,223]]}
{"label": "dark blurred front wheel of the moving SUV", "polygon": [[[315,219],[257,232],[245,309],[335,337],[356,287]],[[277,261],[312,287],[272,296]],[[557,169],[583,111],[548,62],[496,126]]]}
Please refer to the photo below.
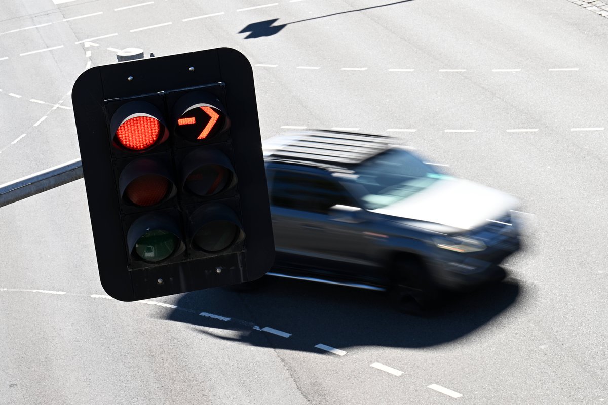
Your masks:
{"label": "dark blurred front wheel of the moving SUV", "polygon": [[437,287],[420,258],[407,256],[396,261],[389,299],[396,310],[408,315],[430,315],[438,307]]}

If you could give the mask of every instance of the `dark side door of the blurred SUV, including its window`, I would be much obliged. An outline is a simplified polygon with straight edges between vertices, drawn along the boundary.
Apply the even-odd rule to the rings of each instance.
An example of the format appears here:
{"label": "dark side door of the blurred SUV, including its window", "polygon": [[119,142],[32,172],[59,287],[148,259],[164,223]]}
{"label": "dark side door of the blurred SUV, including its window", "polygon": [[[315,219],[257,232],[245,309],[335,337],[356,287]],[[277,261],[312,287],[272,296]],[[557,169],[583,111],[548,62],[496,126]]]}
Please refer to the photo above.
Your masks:
{"label": "dark side door of the blurred SUV, including its window", "polygon": [[277,265],[344,276],[365,271],[366,221],[332,208],[358,209],[344,187],[323,173],[277,170],[271,177]]}

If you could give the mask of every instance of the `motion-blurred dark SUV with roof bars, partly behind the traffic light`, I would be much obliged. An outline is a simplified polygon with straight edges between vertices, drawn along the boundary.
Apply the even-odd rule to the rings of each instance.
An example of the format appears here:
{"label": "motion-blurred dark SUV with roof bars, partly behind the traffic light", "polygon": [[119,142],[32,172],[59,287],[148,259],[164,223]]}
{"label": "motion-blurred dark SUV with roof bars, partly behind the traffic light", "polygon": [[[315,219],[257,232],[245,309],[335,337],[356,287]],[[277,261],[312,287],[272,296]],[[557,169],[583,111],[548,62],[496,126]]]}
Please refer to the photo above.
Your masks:
{"label": "motion-blurred dark SUV with roof bars, partly behind the traffic light", "polygon": [[400,308],[505,277],[498,264],[520,248],[517,200],[444,174],[393,140],[302,131],[264,142],[269,275],[389,290]]}

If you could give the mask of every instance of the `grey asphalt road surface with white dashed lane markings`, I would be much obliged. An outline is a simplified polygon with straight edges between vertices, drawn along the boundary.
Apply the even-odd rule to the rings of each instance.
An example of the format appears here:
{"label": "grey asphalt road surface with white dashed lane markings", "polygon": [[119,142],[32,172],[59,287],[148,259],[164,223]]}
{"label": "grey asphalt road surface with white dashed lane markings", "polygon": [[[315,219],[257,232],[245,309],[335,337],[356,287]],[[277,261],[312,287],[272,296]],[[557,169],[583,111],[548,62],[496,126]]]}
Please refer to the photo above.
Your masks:
{"label": "grey asphalt road surface with white dashed lane markings", "polygon": [[510,277],[426,319],[280,280],[118,302],[78,180],[0,208],[0,404],[608,400],[608,19],[567,0],[271,1],[5,0],[0,183],[78,158],[72,85],[117,50],[233,47],[264,138],[393,133],[519,197]]}

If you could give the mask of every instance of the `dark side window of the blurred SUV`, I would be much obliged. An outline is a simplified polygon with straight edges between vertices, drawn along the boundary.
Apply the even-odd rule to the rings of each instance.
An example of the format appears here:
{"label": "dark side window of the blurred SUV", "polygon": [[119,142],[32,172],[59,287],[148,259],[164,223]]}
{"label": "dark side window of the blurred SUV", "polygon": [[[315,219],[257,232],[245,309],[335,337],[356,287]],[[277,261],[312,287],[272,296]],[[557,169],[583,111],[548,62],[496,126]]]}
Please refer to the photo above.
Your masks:
{"label": "dark side window of the blurred SUV", "polygon": [[320,214],[336,204],[353,205],[352,197],[335,180],[292,171],[274,172],[271,204]]}

